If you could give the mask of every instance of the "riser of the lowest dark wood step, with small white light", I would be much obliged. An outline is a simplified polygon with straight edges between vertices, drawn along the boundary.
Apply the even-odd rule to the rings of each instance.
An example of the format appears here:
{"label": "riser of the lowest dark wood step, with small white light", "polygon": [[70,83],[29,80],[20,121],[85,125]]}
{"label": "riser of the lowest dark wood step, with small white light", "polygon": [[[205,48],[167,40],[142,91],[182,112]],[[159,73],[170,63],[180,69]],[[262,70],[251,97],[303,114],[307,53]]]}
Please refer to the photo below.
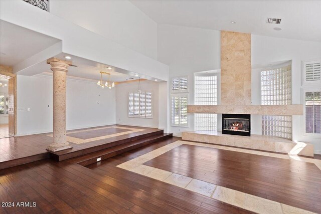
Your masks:
{"label": "riser of the lowest dark wood step, with small white light", "polygon": [[113,156],[128,152],[130,150],[134,150],[134,149],[140,148],[142,146],[148,145],[150,143],[168,139],[170,137],[172,137],[172,135],[167,135],[167,136],[155,138],[155,139],[152,139],[152,140],[149,140],[149,141],[137,144],[137,145],[133,145],[133,146],[128,147],[128,148],[124,148],[124,149],[121,149],[121,150],[118,150],[118,151],[115,151],[115,152],[112,152],[112,153],[109,153],[109,154],[105,154],[105,155],[102,155],[102,156],[97,156],[97,157],[91,158],[89,160],[85,160],[85,161],[79,162],[78,164],[80,164],[82,166],[88,166],[90,164],[96,163],[97,162],[97,158],[99,158],[99,157],[101,158],[101,160],[105,160],[105,159],[111,158]]}

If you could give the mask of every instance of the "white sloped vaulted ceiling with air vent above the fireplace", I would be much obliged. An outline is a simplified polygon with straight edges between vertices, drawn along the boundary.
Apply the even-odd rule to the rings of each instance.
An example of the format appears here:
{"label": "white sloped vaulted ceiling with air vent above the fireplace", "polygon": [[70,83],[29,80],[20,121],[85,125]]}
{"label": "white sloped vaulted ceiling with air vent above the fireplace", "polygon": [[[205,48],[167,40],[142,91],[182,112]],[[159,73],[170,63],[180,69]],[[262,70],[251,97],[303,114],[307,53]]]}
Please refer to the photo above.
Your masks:
{"label": "white sloped vaulted ceiling with air vent above the fireplace", "polygon": [[[158,24],[321,42],[321,1],[130,2]],[[267,18],[281,24],[266,24]]]}

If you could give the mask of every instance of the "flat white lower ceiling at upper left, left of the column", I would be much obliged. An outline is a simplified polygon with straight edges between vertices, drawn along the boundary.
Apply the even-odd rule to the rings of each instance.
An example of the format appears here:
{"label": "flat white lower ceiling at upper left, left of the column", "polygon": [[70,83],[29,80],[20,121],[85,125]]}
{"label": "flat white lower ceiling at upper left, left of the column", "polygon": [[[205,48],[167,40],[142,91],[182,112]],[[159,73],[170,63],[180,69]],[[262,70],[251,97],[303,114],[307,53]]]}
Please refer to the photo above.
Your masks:
{"label": "flat white lower ceiling at upper left, left of the column", "polygon": [[0,20],[0,64],[14,66],[59,41]]}

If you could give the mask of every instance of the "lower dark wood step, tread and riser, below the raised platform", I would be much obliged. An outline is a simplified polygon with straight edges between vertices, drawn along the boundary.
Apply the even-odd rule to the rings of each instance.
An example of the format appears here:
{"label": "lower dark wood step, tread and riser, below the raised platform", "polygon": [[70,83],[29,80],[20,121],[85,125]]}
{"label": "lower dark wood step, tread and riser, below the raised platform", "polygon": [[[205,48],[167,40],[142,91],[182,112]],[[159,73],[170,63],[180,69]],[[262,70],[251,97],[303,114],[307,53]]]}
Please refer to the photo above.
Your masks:
{"label": "lower dark wood step, tread and riser, below the raised platform", "polygon": [[167,138],[172,137],[173,134],[172,133],[163,133],[163,134],[158,134],[158,135],[153,135],[153,136],[149,136],[143,139],[139,139],[136,141],[132,141],[126,144],[122,144],[122,145],[117,145],[111,148],[107,148],[107,149],[103,149],[101,151],[98,152],[93,152],[90,154],[86,154],[83,155],[81,157],[76,157],[73,158],[71,160],[69,160],[72,163],[78,163],[82,166],[87,166],[89,164],[92,163],[96,163],[97,162],[97,158],[100,158],[101,160],[105,160],[108,159],[110,157],[125,153],[127,151],[145,146],[147,144],[153,143],[153,142],[157,142],[160,140],[165,140]]}

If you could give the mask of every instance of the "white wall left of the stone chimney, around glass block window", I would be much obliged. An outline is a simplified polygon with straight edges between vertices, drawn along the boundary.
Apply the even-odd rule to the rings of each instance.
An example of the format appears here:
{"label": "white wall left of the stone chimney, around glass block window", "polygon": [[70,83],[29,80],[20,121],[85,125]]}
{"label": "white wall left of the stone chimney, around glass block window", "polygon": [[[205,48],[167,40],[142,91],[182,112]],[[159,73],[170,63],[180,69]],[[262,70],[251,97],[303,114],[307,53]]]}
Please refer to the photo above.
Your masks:
{"label": "white wall left of the stone chimney, around glass block window", "polygon": [[[158,61],[170,66],[169,81],[188,76],[190,105],[194,104],[194,72],[220,69],[220,52],[220,31],[158,25]],[[168,106],[170,111],[170,102]],[[193,114],[189,114],[188,123],[188,128],[170,126],[170,132],[181,136],[182,131],[194,130]]]}

